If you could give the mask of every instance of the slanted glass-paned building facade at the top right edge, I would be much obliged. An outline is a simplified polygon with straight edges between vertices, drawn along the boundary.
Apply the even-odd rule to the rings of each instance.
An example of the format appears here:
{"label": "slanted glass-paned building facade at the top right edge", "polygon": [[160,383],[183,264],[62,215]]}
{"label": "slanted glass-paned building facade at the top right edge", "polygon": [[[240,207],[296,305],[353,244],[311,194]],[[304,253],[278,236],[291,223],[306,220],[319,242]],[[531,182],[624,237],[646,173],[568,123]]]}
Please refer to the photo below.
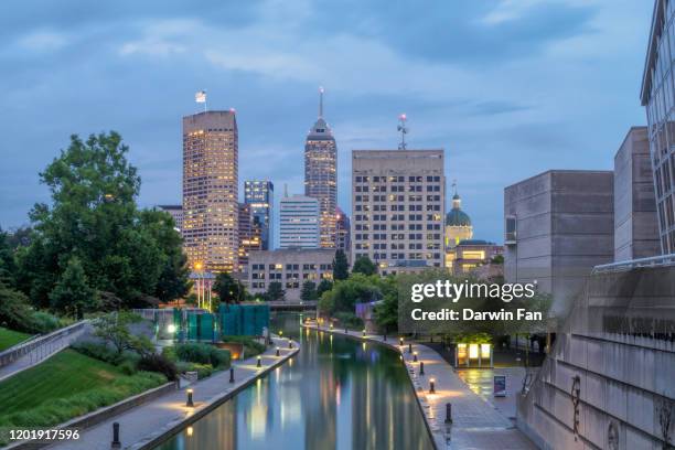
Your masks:
{"label": "slanted glass-paned building facade at the top right edge", "polygon": [[661,250],[675,253],[675,2],[657,0],[642,79]]}

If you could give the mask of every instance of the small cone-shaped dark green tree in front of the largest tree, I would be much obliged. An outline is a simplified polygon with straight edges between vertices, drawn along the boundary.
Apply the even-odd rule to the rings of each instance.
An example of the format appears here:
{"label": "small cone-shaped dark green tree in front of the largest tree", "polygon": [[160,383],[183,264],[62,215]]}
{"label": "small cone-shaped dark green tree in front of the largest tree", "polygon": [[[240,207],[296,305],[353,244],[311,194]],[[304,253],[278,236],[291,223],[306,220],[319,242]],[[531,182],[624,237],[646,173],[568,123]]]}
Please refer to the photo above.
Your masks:
{"label": "small cone-shaped dark green tree in front of the largest tree", "polygon": [[82,320],[84,311],[95,309],[96,292],[89,287],[87,276],[77,257],[72,257],[61,275],[61,278],[50,293],[52,308],[65,311],[74,318]]}

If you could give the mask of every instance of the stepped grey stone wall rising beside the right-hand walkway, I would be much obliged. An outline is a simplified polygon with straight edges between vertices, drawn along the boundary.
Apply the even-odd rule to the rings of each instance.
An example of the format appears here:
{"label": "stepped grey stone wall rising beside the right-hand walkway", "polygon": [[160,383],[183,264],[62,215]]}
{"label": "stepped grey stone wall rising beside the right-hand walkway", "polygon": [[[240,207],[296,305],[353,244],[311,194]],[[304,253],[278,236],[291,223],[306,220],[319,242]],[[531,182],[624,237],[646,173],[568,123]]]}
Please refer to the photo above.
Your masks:
{"label": "stepped grey stone wall rising beside the right-hand walkway", "polygon": [[[675,414],[673,280],[672,265],[618,266],[590,277],[517,398],[516,424],[539,448],[661,450],[666,436],[673,442],[675,416],[663,432],[664,413]],[[618,326],[613,318],[628,321]]]}

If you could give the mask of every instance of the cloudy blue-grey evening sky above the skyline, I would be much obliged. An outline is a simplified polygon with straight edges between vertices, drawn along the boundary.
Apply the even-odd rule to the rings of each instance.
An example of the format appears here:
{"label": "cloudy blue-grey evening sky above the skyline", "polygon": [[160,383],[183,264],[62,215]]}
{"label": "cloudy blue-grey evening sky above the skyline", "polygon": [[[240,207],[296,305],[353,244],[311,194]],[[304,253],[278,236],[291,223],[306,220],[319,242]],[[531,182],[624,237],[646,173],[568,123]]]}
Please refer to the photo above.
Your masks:
{"label": "cloudy blue-grey evening sky above the skyline", "polygon": [[239,179],[302,190],[326,89],[339,203],[352,149],[446,149],[475,237],[502,242],[503,189],[548,169],[611,169],[632,125],[646,0],[7,0],[0,4],[0,226],[28,223],[71,133],[119,131],[141,205],[180,203],[181,117],[237,110]]}

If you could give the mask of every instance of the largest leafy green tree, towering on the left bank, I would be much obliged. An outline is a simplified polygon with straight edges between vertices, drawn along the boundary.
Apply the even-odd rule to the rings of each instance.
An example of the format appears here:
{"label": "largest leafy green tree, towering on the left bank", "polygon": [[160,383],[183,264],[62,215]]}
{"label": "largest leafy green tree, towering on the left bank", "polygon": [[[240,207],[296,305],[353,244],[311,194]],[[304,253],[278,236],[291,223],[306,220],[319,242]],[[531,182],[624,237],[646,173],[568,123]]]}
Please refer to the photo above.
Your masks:
{"label": "largest leafy green tree, towering on the left bank", "polygon": [[30,213],[30,245],[18,251],[18,287],[33,304],[50,306],[50,293],[77,257],[89,286],[119,298],[121,306],[170,300],[186,287],[180,236],[164,215],[139,212],[140,176],[127,161],[117,132],[71,137],[66,150],[40,174],[51,204]]}

